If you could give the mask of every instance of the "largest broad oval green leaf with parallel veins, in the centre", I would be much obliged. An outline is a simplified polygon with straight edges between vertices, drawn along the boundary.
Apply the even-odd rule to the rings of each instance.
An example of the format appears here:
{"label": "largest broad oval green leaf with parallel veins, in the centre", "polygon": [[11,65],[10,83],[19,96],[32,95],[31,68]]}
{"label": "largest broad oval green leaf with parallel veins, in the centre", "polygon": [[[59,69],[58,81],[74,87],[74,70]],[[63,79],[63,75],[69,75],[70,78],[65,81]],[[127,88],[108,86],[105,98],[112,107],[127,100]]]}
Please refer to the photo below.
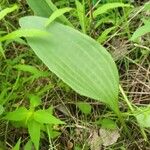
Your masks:
{"label": "largest broad oval green leaf with parallel veins, in the centre", "polygon": [[45,28],[46,21],[33,16],[20,20],[22,28],[49,32],[49,36],[27,38],[37,56],[76,92],[117,112],[119,78],[111,55],[95,40],[70,27],[53,22]]}

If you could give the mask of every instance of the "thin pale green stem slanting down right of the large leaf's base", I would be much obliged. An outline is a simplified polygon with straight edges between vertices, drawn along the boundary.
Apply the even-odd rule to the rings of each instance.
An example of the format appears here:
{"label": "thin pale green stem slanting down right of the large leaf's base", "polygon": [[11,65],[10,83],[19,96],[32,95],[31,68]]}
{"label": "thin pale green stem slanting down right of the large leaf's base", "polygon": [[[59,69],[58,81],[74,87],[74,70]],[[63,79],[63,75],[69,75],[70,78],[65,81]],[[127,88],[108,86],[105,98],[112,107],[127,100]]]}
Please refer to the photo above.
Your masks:
{"label": "thin pale green stem slanting down right of the large leaf's base", "polygon": [[[119,89],[120,89],[120,92],[121,92],[125,102],[127,103],[128,107],[130,108],[131,112],[134,113],[134,108],[132,107],[131,102],[128,100],[127,95],[125,94],[125,92],[124,92],[123,88],[121,87],[121,85],[119,85]],[[146,133],[144,131],[144,128],[142,126],[140,126],[140,125],[139,125],[139,128],[141,130],[141,134],[142,134],[144,140],[148,141],[148,138],[147,138],[147,135],[146,135]]]}

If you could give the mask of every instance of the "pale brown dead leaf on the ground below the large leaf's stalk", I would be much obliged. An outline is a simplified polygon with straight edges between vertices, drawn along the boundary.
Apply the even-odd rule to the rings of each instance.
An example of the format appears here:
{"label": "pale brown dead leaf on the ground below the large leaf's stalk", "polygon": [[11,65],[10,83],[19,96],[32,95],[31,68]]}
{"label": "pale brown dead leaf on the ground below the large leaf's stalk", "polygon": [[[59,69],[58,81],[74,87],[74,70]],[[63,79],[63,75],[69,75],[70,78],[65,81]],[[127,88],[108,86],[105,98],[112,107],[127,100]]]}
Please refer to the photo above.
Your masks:
{"label": "pale brown dead leaf on the ground below the large leaf's stalk", "polygon": [[117,129],[108,130],[101,128],[99,130],[99,133],[104,146],[109,146],[116,143],[118,138],[120,137],[120,134]]}

